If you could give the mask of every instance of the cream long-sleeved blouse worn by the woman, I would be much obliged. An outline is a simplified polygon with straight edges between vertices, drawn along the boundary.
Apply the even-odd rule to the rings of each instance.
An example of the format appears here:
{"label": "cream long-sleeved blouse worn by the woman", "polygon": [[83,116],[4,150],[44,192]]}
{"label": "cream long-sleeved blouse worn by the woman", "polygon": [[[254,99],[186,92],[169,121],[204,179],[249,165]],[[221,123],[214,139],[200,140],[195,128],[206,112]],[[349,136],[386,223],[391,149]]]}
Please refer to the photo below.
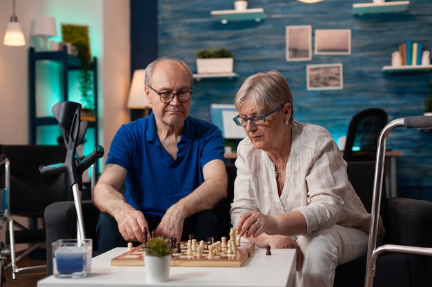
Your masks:
{"label": "cream long-sleeved blouse worn by the woman", "polygon": [[[277,215],[298,210],[306,218],[307,233],[334,224],[369,232],[371,215],[349,182],[347,164],[324,127],[293,122],[291,155],[280,198],[275,164],[248,138],[237,147],[235,166],[237,178],[230,209],[233,226],[247,211]],[[382,225],[380,229],[383,231]]]}

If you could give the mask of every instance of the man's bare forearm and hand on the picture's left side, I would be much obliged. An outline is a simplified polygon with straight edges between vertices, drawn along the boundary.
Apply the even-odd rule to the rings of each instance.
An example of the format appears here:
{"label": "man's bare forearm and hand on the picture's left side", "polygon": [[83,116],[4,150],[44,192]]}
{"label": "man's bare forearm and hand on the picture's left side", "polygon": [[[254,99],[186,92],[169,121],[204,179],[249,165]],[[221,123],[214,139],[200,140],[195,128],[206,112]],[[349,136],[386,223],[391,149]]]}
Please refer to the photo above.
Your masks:
{"label": "man's bare forearm and hand on the picture's left side", "polygon": [[120,193],[126,174],[123,167],[107,164],[95,186],[93,202],[99,211],[115,218],[124,240],[142,242],[142,230],[148,228],[144,215],[130,206]]}

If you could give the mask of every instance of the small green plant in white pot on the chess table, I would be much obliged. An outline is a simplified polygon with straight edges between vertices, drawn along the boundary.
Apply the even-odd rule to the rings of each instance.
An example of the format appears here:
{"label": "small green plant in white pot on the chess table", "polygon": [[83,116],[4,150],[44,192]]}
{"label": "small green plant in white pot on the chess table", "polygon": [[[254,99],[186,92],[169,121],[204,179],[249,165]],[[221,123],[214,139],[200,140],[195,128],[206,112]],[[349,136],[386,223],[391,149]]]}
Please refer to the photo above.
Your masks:
{"label": "small green plant in white pot on the chess table", "polygon": [[168,240],[158,236],[147,242],[144,265],[148,284],[168,281],[171,265],[171,248]]}

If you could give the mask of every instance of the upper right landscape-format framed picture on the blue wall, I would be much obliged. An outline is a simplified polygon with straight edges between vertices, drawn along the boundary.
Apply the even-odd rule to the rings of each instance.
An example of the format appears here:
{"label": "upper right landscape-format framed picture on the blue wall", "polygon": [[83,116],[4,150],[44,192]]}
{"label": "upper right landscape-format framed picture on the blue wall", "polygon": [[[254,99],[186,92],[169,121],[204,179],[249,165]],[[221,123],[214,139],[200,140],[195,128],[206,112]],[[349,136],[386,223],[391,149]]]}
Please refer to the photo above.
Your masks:
{"label": "upper right landscape-format framed picture on the blue wall", "polygon": [[315,54],[351,54],[351,29],[315,30]]}

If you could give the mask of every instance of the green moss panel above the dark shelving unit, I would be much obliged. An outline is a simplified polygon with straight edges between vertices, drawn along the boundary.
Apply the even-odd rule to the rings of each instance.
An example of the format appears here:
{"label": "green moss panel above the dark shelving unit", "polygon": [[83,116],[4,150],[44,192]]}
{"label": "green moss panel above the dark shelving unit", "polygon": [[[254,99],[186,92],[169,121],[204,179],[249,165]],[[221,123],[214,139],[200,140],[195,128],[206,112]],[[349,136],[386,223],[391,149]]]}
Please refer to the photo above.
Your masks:
{"label": "green moss panel above the dark shelving unit", "polygon": [[62,23],[61,39],[63,43],[70,43],[77,47],[79,58],[89,59],[90,61],[92,61],[88,25]]}

